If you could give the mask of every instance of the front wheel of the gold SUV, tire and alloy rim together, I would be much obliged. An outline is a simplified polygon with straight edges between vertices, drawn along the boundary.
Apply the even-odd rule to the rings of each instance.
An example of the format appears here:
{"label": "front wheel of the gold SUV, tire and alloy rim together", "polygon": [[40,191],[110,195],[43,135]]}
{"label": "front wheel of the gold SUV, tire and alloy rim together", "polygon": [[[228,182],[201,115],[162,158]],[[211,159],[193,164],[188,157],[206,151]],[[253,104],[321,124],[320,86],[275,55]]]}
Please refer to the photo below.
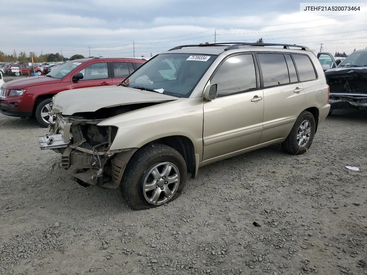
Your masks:
{"label": "front wheel of the gold SUV, tire and alloy rim together", "polygon": [[174,148],[163,144],[143,147],[126,167],[121,193],[132,209],[154,208],[176,199],[186,176],[185,159]]}

